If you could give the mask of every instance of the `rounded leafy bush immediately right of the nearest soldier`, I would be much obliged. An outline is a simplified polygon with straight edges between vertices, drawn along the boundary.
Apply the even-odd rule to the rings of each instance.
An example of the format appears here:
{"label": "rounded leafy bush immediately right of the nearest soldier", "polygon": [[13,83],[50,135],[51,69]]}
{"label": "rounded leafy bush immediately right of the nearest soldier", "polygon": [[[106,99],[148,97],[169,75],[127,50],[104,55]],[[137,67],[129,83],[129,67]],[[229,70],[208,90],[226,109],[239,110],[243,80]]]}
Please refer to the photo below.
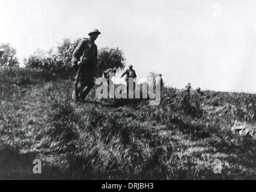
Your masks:
{"label": "rounded leafy bush immediately right of the nearest soldier", "polygon": [[122,70],[125,67],[125,60],[123,51],[118,47],[102,47],[98,52],[97,76],[102,76],[103,71],[108,68]]}

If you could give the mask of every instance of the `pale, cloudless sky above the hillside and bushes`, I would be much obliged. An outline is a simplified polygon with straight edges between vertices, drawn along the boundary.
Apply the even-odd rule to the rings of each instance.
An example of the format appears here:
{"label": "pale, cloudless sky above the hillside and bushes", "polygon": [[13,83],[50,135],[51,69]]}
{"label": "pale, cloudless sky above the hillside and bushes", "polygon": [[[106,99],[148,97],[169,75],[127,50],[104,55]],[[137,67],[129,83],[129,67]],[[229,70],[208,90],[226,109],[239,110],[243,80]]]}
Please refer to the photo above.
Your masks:
{"label": "pale, cloudless sky above the hillside and bushes", "polygon": [[63,38],[102,34],[138,77],[161,73],[175,88],[256,92],[256,1],[0,0],[0,43],[19,61]]}

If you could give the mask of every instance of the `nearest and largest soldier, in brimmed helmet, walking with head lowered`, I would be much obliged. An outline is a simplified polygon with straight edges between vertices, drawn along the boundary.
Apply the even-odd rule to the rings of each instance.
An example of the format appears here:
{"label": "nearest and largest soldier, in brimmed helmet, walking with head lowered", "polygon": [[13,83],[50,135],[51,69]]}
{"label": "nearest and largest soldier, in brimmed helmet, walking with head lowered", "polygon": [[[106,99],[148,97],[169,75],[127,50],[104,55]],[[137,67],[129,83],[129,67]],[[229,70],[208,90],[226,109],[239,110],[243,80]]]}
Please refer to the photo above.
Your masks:
{"label": "nearest and largest soldier, in brimmed helmet, walking with head lowered", "polygon": [[97,67],[97,46],[94,41],[100,32],[93,29],[88,35],[90,38],[82,38],[72,55],[72,66],[76,70],[74,91],[72,99],[84,101],[91,88],[94,86],[94,76]]}

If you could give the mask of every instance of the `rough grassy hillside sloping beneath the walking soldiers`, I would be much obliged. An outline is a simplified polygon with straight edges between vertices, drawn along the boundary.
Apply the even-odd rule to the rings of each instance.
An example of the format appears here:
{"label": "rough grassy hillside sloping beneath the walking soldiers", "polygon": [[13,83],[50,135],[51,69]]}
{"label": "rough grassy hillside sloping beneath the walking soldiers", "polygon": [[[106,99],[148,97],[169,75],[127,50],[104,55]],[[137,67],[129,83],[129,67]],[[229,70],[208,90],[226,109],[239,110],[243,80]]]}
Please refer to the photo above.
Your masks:
{"label": "rough grassy hillside sloping beneath the walking soldiers", "polygon": [[[62,71],[63,72],[63,71]],[[65,72],[65,71],[64,71]],[[0,179],[256,179],[255,96],[171,88],[148,100],[71,100],[69,71],[0,70]],[[34,174],[34,159],[42,173]],[[222,174],[213,161],[222,161]]]}

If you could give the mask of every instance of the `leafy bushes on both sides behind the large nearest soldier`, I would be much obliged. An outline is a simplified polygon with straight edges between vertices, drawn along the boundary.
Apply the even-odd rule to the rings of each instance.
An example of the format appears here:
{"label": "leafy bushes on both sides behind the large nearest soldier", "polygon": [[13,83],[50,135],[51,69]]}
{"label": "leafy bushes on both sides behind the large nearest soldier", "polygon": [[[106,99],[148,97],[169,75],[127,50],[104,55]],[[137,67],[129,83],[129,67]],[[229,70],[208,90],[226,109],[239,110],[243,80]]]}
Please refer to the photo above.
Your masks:
{"label": "leafy bushes on both sides behind the large nearest soldier", "polygon": [[[37,49],[28,59],[24,59],[26,67],[44,68],[55,73],[59,73],[71,67],[72,54],[81,38],[72,42],[65,38],[56,47],[49,51]],[[125,66],[124,53],[118,48],[103,47],[98,51],[97,76],[102,76],[102,72],[108,68],[120,68]],[[71,70],[70,73],[73,71]],[[66,73],[65,73],[66,74]]]}

